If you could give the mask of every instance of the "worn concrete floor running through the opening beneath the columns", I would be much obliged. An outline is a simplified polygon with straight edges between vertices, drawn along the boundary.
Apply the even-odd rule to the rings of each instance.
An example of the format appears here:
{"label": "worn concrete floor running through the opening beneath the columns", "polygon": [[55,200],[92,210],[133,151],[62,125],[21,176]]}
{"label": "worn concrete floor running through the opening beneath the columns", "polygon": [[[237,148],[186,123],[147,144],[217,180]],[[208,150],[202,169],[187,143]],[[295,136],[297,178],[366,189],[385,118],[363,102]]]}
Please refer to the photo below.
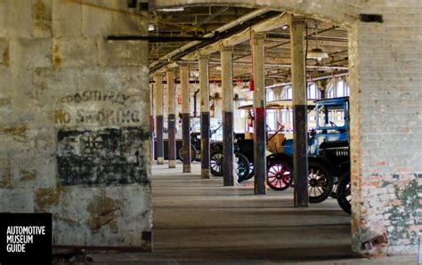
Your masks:
{"label": "worn concrete floor running through the opening beneath the columns", "polygon": [[350,217],[335,199],[293,207],[293,189],[255,196],[253,180],[223,187],[182,165],[152,166],[153,253],[90,254],[133,264],[416,264],[416,257],[361,259],[351,251]]}

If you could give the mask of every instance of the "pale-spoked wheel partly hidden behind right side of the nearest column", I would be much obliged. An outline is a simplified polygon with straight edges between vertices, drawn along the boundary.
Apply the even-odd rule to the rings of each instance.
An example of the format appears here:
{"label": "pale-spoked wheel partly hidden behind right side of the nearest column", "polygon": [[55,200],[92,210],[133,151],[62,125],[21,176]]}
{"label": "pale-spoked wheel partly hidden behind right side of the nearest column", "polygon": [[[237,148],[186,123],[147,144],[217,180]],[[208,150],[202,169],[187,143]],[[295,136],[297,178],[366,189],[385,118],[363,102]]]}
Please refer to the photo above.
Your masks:
{"label": "pale-spoked wheel partly hidden behind right side of the nearest column", "polygon": [[333,190],[333,178],[329,170],[319,163],[309,162],[308,195],[311,204],[326,200]]}

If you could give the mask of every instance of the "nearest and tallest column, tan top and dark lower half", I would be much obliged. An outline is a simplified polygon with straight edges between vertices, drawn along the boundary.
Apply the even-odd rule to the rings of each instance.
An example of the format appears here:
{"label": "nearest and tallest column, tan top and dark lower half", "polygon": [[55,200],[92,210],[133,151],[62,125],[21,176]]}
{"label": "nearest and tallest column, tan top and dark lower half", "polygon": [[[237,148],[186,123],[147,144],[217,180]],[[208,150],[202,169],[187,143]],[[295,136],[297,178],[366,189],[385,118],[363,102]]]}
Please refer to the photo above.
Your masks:
{"label": "nearest and tallest column, tan top and dark lower half", "polygon": [[293,96],[293,174],[295,206],[307,207],[308,160],[306,121],[306,70],[304,60],[304,18],[292,17],[290,27]]}

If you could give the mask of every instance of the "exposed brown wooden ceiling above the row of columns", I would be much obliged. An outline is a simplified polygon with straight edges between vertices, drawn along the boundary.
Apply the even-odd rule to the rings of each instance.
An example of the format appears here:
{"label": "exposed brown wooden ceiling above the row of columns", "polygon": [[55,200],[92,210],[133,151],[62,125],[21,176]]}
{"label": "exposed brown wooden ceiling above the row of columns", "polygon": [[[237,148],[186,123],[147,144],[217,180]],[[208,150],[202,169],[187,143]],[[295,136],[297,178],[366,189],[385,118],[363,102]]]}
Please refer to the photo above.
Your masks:
{"label": "exposed brown wooden ceiling above the row of columns", "polygon": [[[159,60],[168,52],[180,48],[187,42],[174,42],[174,36],[190,36],[200,38],[226,23],[239,19],[241,16],[253,12],[253,9],[227,6],[197,6],[183,8],[183,11],[164,12],[156,11],[150,17],[150,36],[160,36],[162,42],[150,43],[150,63]],[[284,26],[284,27],[283,27]],[[306,20],[308,51],[319,47],[329,54],[328,59],[317,61],[308,59],[307,73],[309,76],[345,71],[348,67],[347,30],[339,28],[329,22],[307,19]],[[265,71],[266,83],[280,83],[290,81],[290,36],[289,28],[280,25],[265,32]],[[166,37],[168,39],[166,39]],[[186,59],[186,58],[184,58]],[[183,59],[182,59],[183,60]],[[198,71],[196,60],[191,62],[191,71]],[[234,46],[233,50],[233,76],[234,79],[248,80],[251,76],[251,49],[249,41],[244,41]],[[220,54],[214,52],[210,55],[210,80],[220,80]],[[192,76],[198,76],[198,74]]]}

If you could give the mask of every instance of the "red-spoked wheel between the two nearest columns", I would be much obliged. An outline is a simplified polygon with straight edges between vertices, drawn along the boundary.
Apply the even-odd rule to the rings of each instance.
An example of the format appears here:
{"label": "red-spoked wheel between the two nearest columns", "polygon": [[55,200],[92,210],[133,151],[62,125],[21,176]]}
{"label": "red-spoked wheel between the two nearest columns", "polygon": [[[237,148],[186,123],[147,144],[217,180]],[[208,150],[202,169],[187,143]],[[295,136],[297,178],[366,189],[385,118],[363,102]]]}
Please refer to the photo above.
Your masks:
{"label": "red-spoked wheel between the two nearest columns", "polygon": [[267,184],[271,189],[288,189],[293,182],[293,169],[286,161],[274,161],[267,169]]}

